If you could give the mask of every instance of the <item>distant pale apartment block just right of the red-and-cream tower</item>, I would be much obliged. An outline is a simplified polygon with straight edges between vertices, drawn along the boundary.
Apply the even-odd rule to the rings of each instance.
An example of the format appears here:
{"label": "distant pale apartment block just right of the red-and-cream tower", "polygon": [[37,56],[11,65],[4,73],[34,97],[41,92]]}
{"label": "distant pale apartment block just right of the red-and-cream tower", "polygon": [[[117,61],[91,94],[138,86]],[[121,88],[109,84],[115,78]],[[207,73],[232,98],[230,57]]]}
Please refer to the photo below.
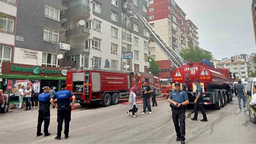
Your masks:
{"label": "distant pale apartment block just right of the red-and-cream tower", "polygon": [[187,23],[187,31],[188,31],[188,44],[199,47],[199,36],[198,36],[198,28],[191,20],[186,20]]}

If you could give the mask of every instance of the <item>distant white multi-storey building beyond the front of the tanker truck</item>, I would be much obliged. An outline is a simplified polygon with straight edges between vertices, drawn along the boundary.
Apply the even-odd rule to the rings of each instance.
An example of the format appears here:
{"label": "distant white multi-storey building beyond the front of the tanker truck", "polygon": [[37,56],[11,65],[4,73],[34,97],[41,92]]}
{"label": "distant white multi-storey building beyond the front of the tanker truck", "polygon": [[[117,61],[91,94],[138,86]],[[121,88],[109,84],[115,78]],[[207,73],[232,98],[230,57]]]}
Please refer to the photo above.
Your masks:
{"label": "distant white multi-storey building beyond the front of the tanker truck", "polygon": [[240,60],[227,60],[217,64],[219,68],[227,68],[230,72],[236,74],[236,79],[248,78],[250,76],[251,65],[249,62]]}

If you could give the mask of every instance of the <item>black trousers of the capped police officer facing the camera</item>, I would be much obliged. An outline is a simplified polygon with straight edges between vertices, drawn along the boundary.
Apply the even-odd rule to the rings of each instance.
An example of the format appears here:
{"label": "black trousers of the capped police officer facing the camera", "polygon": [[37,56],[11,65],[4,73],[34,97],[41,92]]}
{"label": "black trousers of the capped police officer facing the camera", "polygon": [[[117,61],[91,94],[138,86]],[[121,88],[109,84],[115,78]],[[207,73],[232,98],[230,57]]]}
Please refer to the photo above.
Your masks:
{"label": "black trousers of the capped police officer facing the camera", "polygon": [[[185,139],[185,107],[182,108],[176,108],[176,107],[172,107],[172,120],[174,123],[174,127],[175,127],[175,131],[177,133],[177,137],[179,137],[181,140],[186,140]],[[179,122],[180,120],[180,122]],[[179,125],[180,123],[180,125]]]}

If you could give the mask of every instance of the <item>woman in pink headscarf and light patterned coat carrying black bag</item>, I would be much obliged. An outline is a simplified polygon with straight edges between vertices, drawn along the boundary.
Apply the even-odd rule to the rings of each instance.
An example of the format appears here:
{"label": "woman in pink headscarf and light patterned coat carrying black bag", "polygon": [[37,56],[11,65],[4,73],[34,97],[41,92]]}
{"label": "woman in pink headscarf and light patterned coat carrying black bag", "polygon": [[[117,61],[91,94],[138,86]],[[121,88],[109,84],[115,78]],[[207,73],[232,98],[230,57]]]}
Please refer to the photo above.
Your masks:
{"label": "woman in pink headscarf and light patterned coat carrying black bag", "polygon": [[137,117],[137,116],[135,116],[136,109],[138,109],[138,107],[136,105],[136,100],[137,100],[137,95],[135,94],[135,87],[132,87],[130,89],[130,95],[129,95],[129,108],[130,108],[130,110],[127,111],[129,116],[130,116],[130,112],[132,112],[132,117]]}

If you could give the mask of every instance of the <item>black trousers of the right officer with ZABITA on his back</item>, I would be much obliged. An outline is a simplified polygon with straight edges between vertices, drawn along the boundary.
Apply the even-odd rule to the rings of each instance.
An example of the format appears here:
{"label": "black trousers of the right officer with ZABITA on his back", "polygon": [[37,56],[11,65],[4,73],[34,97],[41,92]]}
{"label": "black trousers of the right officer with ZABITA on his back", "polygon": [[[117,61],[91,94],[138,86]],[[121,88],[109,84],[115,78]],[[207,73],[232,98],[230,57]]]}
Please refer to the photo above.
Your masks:
{"label": "black trousers of the right officer with ZABITA on his back", "polygon": [[57,137],[61,137],[61,131],[62,131],[62,124],[63,121],[65,121],[65,130],[64,134],[65,137],[68,136],[69,132],[69,122],[71,121],[71,107],[59,107],[57,110],[57,122],[58,122],[58,132],[57,132]]}

